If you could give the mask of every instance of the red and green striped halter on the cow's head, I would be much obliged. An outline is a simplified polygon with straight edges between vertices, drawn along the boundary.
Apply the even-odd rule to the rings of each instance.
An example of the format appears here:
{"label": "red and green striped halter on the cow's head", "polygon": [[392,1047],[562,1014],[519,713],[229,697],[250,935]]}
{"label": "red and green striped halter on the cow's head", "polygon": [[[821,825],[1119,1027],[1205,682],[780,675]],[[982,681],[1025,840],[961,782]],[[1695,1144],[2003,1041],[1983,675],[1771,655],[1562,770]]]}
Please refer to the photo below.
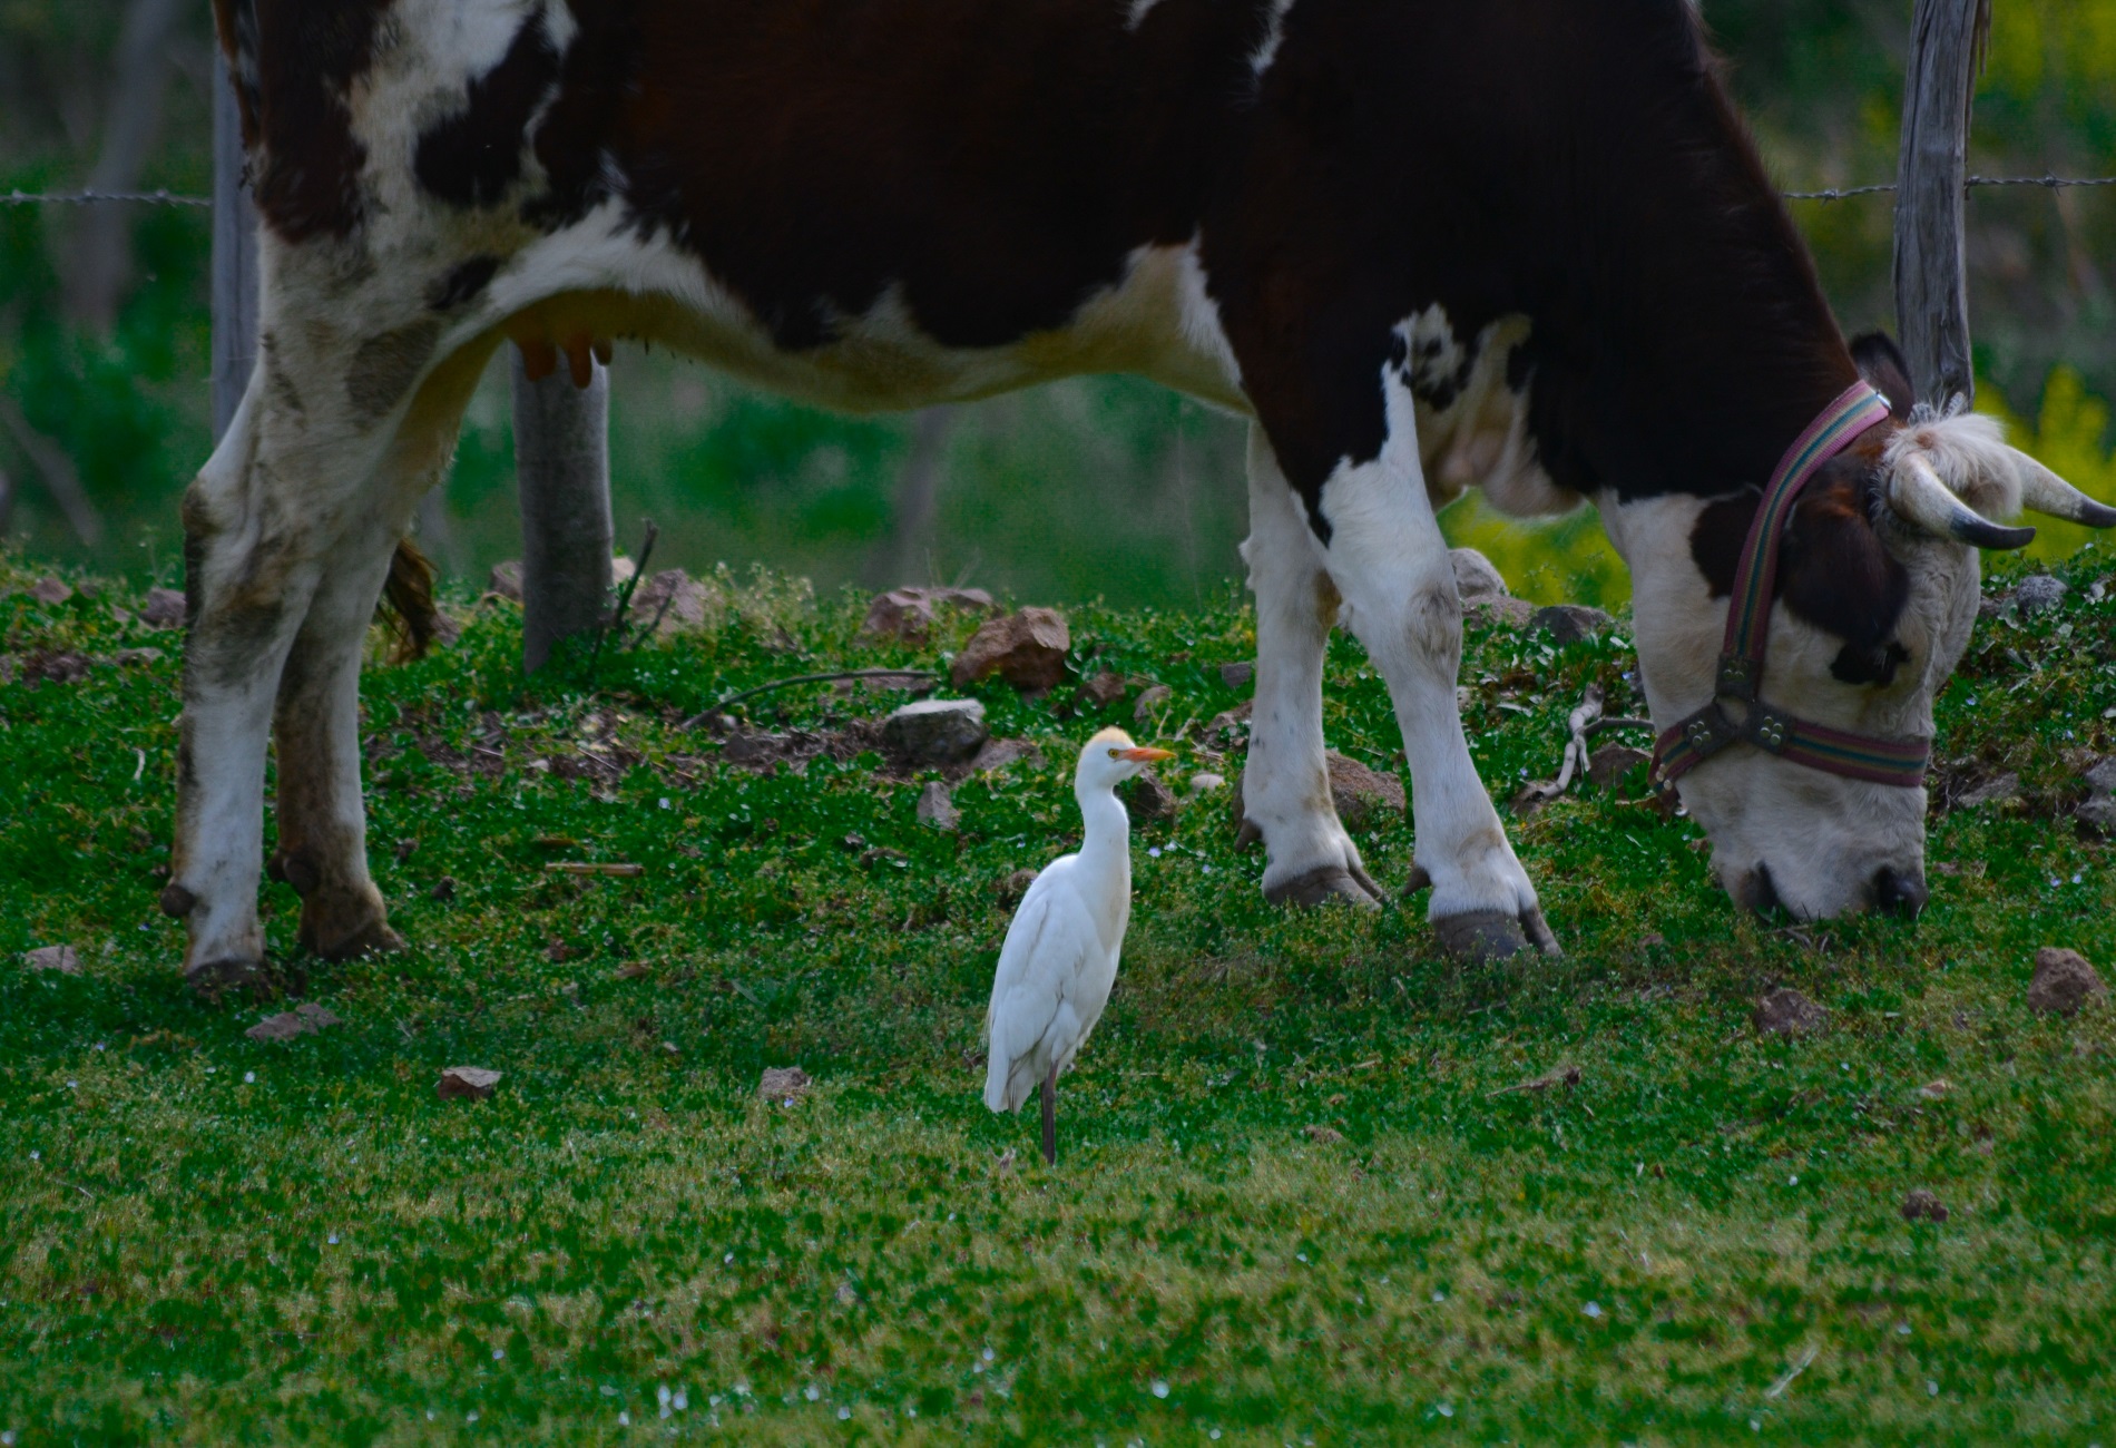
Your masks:
{"label": "red and green striped halter on the cow's head", "polygon": [[1727,641],[1720,648],[1712,703],[1682,718],[1653,743],[1653,785],[1667,794],[1676,779],[1735,743],[1847,779],[1915,788],[1926,777],[1932,743],[1926,739],[1868,739],[1796,720],[1763,703],[1763,646],[1771,629],[1771,593],[1777,548],[1807,478],[1852,447],[1866,430],[1887,421],[1887,398],[1858,381],[1822,409],[1807,432],[1777,459],[1763,506],[1748,525],[1741,563],[1727,605]]}

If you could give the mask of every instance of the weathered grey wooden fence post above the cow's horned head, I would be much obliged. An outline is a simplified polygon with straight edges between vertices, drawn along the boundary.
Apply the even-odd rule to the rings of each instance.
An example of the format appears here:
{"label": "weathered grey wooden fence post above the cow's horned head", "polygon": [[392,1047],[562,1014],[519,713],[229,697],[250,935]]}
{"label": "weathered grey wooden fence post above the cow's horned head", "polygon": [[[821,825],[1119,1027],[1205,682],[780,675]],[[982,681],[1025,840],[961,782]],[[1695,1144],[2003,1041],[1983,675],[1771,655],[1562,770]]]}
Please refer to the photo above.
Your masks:
{"label": "weathered grey wooden fence post above the cow's horned head", "polygon": [[1896,326],[1919,402],[1976,398],[1962,201],[1991,0],[1917,0],[1896,169]]}

